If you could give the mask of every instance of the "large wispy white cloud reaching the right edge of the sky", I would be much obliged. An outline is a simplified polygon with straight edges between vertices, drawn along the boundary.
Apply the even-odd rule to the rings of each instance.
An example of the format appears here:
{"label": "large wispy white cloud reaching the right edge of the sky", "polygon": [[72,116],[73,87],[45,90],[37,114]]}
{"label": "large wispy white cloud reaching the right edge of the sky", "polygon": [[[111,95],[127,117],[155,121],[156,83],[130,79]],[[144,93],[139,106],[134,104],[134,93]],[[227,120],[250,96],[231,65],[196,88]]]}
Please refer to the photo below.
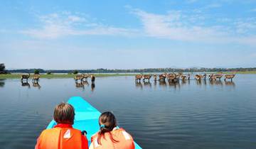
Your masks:
{"label": "large wispy white cloud reaching the right edge of the sky", "polygon": [[[190,42],[256,45],[254,36],[235,34],[236,32],[227,26],[206,26],[203,23],[205,22],[204,17],[198,14],[187,14],[183,11],[156,14],[140,9],[132,9],[132,13],[139,17],[140,21],[142,21],[144,32],[151,37]],[[240,23],[239,25],[240,29],[248,26],[254,27],[250,23]]]}

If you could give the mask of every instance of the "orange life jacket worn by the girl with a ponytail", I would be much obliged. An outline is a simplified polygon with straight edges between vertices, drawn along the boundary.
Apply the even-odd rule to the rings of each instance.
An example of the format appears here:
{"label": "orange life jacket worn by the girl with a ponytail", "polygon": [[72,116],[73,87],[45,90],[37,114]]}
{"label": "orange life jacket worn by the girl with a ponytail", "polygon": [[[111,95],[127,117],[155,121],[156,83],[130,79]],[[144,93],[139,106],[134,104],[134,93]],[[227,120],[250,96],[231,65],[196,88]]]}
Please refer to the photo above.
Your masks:
{"label": "orange life jacket worn by the girl with a ponytail", "polygon": [[[114,140],[118,142],[112,142],[110,138],[110,133]],[[91,138],[90,149],[134,149],[134,140],[132,136],[129,135],[123,128],[114,128],[110,133],[105,133],[104,136],[100,138],[100,143],[97,142],[98,133],[96,133]]]}

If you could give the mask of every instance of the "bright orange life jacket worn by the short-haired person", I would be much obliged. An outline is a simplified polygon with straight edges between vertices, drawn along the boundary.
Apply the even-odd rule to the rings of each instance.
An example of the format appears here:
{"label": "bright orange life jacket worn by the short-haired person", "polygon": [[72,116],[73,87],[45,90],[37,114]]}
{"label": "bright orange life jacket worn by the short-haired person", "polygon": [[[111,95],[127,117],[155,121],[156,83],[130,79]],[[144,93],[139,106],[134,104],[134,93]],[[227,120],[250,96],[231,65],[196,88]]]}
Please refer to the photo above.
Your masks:
{"label": "bright orange life jacket worn by the short-haired person", "polygon": [[88,140],[81,131],[60,123],[44,130],[38,137],[36,149],[88,149]]}

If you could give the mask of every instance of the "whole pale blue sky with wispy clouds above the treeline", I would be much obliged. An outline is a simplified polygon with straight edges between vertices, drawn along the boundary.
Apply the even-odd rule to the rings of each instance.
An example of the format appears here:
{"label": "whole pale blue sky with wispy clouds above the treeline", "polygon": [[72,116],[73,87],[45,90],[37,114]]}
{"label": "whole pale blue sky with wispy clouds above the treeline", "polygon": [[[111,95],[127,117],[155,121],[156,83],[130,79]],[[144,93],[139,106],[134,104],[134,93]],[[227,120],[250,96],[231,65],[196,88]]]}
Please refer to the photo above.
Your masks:
{"label": "whole pale blue sky with wispy clouds above the treeline", "polygon": [[256,67],[256,1],[1,1],[11,68]]}

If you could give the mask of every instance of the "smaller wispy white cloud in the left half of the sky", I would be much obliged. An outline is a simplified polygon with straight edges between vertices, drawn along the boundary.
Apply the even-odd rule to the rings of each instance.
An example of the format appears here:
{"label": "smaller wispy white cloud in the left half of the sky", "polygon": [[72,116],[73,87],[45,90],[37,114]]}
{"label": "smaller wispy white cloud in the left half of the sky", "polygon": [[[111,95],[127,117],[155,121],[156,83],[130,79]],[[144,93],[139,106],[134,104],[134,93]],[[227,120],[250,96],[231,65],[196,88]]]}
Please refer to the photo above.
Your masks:
{"label": "smaller wispy white cloud in the left half of the sky", "polygon": [[61,38],[68,35],[133,35],[137,30],[116,28],[88,21],[87,18],[65,13],[38,17],[41,27],[21,31],[34,38]]}

